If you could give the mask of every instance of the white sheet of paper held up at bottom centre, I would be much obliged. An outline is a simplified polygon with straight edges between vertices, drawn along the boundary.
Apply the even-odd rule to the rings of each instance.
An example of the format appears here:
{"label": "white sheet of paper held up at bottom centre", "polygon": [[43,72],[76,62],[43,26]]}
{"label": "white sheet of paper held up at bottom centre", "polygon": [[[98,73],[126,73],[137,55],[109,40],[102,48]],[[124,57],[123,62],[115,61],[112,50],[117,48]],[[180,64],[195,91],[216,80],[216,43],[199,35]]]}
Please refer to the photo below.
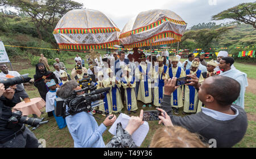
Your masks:
{"label": "white sheet of paper held up at bottom centre", "polygon": [[[123,128],[126,128],[130,118],[131,117],[129,117],[128,115],[121,113],[113,123],[112,127],[109,128],[109,132],[115,135],[117,131],[117,123],[119,122],[121,122]],[[133,138],[134,143],[138,147],[141,146],[143,140],[147,136],[148,130],[149,130],[148,123],[144,121],[144,123],[133,133],[133,135],[131,135],[131,138]]]}

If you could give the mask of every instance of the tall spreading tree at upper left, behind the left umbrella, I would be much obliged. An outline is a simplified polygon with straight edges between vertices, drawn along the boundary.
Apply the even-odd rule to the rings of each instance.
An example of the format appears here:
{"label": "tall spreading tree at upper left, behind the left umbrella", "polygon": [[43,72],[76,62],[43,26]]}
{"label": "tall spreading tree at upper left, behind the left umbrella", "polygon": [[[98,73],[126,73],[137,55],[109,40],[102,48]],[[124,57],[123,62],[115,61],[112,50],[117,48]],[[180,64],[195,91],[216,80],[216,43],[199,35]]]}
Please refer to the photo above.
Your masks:
{"label": "tall spreading tree at upper left, behind the left umbrella", "polygon": [[7,5],[15,7],[19,12],[24,12],[30,16],[36,26],[39,38],[41,40],[43,40],[43,36],[48,38],[55,48],[57,48],[57,45],[52,32],[58,20],[68,11],[83,6],[81,3],[71,0],[6,0],[6,2]]}

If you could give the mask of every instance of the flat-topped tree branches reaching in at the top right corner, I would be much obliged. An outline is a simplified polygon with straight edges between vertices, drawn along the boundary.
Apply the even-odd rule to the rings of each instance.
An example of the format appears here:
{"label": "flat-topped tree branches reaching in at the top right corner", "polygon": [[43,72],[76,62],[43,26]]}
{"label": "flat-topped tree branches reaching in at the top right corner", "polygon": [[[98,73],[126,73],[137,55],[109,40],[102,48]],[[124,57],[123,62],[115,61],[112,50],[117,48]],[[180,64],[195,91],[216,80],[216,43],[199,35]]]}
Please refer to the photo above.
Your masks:
{"label": "flat-topped tree branches reaching in at the top right corner", "polygon": [[256,28],[256,1],[251,3],[242,3],[240,5],[222,11],[212,16],[212,20],[234,19],[236,22],[243,22],[253,25]]}

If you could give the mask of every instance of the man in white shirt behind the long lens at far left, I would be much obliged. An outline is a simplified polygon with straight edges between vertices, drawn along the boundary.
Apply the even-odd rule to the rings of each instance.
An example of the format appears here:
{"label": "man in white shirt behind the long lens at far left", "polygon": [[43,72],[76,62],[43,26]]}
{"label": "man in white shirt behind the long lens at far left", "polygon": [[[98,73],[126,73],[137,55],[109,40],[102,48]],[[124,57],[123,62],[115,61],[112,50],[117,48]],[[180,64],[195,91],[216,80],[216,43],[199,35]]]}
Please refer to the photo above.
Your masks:
{"label": "man in white shirt behind the long lens at far left", "polygon": [[[8,66],[5,63],[0,64],[0,70],[2,71],[0,73],[0,80],[6,80],[9,78],[14,78],[16,76],[20,76],[19,72],[17,71],[9,71]],[[24,89],[23,84],[18,84],[15,89],[14,98],[20,102],[20,97],[24,100],[28,98],[28,94]]]}

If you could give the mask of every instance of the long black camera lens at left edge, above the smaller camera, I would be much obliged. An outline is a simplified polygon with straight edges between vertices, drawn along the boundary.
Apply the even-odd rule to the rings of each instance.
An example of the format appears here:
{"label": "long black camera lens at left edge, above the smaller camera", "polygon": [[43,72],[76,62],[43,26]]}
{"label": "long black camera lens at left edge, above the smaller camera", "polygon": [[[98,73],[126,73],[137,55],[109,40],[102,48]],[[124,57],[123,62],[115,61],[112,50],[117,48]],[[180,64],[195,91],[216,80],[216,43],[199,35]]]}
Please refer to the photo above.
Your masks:
{"label": "long black camera lens at left edge, above the smaller camera", "polygon": [[24,75],[16,76],[14,78],[6,79],[6,80],[0,80],[0,83],[5,85],[5,88],[8,88],[11,85],[26,83],[30,80],[31,80],[31,78],[28,77],[28,74],[24,74]]}

